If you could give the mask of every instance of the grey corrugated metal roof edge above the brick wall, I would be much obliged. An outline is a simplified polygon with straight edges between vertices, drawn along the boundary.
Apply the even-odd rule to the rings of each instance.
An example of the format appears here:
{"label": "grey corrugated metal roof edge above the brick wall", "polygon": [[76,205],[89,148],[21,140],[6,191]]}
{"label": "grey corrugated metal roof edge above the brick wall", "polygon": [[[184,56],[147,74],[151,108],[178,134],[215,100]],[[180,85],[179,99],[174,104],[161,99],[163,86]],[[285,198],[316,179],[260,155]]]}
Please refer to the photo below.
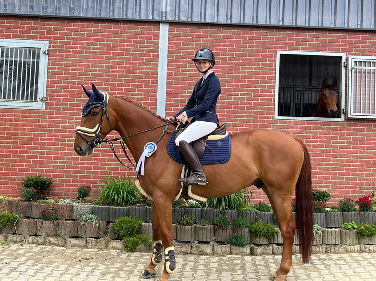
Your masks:
{"label": "grey corrugated metal roof edge above the brick wall", "polygon": [[0,14],[375,30],[375,0],[0,0]]}

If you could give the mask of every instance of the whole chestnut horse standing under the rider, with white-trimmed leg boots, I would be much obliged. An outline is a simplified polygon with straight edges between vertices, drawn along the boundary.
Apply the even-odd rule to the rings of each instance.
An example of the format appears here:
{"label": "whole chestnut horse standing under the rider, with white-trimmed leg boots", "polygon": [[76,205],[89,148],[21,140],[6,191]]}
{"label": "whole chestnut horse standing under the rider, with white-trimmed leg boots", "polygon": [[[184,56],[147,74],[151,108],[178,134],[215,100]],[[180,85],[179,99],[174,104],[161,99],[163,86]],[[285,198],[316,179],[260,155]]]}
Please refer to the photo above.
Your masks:
{"label": "whole chestnut horse standing under the rider, with white-trimmed leg boots", "polygon": [[[163,261],[164,253],[164,269],[159,280],[168,281],[169,275],[176,270],[172,246],[172,203],[179,198],[182,189],[178,179],[183,164],[169,156],[166,145],[168,135],[177,125],[167,124],[164,118],[128,99],[109,96],[94,84],[92,90],[84,88],[89,101],[83,108],[81,124],[76,129],[74,149],[78,155],[91,154],[94,147],[107,141],[104,138],[112,130],[120,134],[136,160],[142,158],[146,143],[158,140],[158,149],[144,159],[144,175],[138,174],[136,181],[140,191],[151,199],[153,219],[153,253],[141,276],[153,278],[155,267]],[[278,281],[285,280],[292,265],[295,229],[302,262],[307,263],[311,258],[313,205],[308,150],[297,138],[269,129],[248,130],[230,136],[229,160],[223,164],[205,165],[208,184],[192,185],[189,194],[205,201],[230,195],[251,185],[262,188],[283,237],[282,259],[273,277]],[[296,223],[291,210],[295,187]]]}

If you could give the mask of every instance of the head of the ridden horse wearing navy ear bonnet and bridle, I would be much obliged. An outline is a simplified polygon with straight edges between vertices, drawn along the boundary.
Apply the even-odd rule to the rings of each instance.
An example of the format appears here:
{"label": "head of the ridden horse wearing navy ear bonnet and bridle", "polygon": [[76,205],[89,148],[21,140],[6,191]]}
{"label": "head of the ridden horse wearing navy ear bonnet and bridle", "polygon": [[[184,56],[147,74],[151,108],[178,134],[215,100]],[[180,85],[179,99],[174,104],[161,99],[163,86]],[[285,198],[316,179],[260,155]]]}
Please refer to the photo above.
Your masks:
{"label": "head of the ridden horse wearing navy ear bonnet and bridle", "polygon": [[78,155],[87,156],[93,153],[94,147],[101,144],[102,139],[112,131],[112,128],[106,109],[108,93],[99,91],[94,84],[92,84],[93,91],[83,85],[82,88],[89,100],[82,109],[81,124],[76,128],[74,149]]}

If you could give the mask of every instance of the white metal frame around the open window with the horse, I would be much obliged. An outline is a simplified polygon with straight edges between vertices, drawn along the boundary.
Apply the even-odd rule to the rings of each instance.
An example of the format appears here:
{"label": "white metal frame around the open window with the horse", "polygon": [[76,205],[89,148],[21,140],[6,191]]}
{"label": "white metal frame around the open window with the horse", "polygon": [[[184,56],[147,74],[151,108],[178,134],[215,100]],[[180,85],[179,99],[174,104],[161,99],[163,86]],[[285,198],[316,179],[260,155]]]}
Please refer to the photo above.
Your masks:
{"label": "white metal frame around the open window with the horse", "polygon": [[279,99],[279,67],[280,67],[280,55],[306,55],[306,56],[331,56],[331,57],[341,57],[341,81],[338,81],[340,87],[340,108],[345,109],[345,73],[346,68],[345,60],[346,54],[344,53],[326,53],[326,52],[299,52],[299,51],[277,51],[277,58],[276,58],[276,71],[275,71],[275,103],[274,103],[274,118],[275,119],[283,119],[283,120],[307,120],[307,121],[331,121],[331,122],[343,122],[345,121],[345,114],[342,112],[341,117],[338,118],[323,118],[323,117],[296,117],[296,116],[279,116],[278,115],[278,99]]}

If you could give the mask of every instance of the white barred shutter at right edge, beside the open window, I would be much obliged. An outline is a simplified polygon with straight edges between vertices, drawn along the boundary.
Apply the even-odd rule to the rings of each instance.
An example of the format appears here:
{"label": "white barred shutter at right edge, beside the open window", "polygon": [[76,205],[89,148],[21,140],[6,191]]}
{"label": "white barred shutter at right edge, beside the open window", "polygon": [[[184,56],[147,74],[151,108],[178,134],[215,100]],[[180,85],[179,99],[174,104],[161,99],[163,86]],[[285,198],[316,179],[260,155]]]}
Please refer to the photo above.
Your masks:
{"label": "white barred shutter at right edge, beside the open window", "polygon": [[[374,66],[355,67],[355,62],[372,63]],[[364,75],[356,75],[354,70],[364,70]],[[360,77],[359,77],[360,76]],[[354,80],[357,79],[356,83]],[[370,79],[370,87],[364,80]],[[373,87],[371,84],[373,83]],[[355,84],[360,84],[359,94],[361,100],[356,100],[357,90]],[[364,87],[363,87],[364,85]],[[363,93],[364,91],[364,93]],[[356,107],[356,109],[355,109]],[[373,108],[373,113],[366,112],[367,107]],[[349,56],[348,57],[348,118],[376,119],[376,57]]]}

